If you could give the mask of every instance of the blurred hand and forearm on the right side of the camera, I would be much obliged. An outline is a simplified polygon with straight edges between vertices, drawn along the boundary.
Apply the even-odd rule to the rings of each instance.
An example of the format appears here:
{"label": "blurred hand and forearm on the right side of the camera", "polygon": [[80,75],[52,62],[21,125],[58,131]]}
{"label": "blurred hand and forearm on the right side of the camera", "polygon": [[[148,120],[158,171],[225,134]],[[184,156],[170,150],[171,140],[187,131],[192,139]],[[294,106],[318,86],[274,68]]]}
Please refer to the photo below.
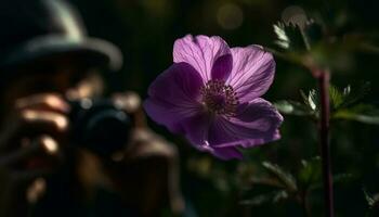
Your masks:
{"label": "blurred hand and forearm on the right side of the camera", "polygon": [[140,216],[157,216],[162,207],[182,213],[175,145],[147,127],[136,93],[118,93],[114,100],[134,122],[126,150],[113,156],[115,164],[107,170],[116,189]]}

